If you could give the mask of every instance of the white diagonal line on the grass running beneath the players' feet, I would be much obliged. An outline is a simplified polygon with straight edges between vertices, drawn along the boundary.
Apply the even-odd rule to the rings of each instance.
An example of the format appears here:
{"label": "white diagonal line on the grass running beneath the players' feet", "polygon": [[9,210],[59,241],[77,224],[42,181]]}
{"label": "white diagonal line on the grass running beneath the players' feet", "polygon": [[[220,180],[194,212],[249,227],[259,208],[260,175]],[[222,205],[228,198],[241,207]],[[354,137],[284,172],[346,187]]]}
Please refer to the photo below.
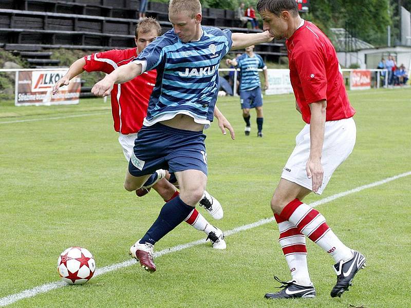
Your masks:
{"label": "white diagonal line on the grass running beneath the players' feet", "polygon": [[[339,192],[339,194],[335,194],[335,195],[332,195],[330,197],[327,197],[327,198],[321,199],[319,201],[313,202],[313,203],[310,204],[310,206],[315,207],[315,206],[318,206],[318,205],[333,201],[335,199],[339,199],[339,198],[345,197],[347,195],[354,194],[354,192],[359,192],[359,191],[367,189],[367,188],[379,186],[379,185],[382,185],[382,184],[385,184],[385,183],[388,183],[388,182],[391,182],[391,181],[394,181],[394,180],[397,180],[397,179],[400,179],[400,178],[404,178],[404,177],[407,177],[407,176],[410,176],[410,175],[411,175],[411,171],[408,171],[408,172],[405,172],[403,174],[400,174],[400,175],[397,175],[397,176],[394,176],[394,177],[390,177],[390,178],[386,178],[386,179],[378,181],[378,182],[370,183],[370,184],[367,184],[367,185],[359,186],[359,187],[354,188],[354,189]],[[239,226],[239,227],[234,228],[232,230],[228,230],[228,231],[224,232],[224,234],[226,236],[230,236],[230,235],[236,234],[236,233],[244,231],[244,230],[248,230],[248,229],[251,229],[251,228],[258,227],[260,225],[264,225],[266,223],[272,222],[273,220],[274,220],[274,217],[261,219],[261,220],[256,221],[256,222],[253,222],[253,223],[250,223],[250,224],[247,224],[247,225],[243,225],[243,226]],[[160,256],[171,254],[171,253],[174,253],[174,252],[179,252],[183,249],[190,248],[190,247],[193,247],[193,246],[197,246],[197,245],[200,245],[200,244],[203,244],[203,243],[206,243],[206,240],[201,239],[201,240],[198,240],[198,241],[194,241],[194,242],[190,242],[190,243],[186,243],[186,244],[182,244],[182,245],[177,245],[177,246],[174,246],[174,247],[171,247],[171,248],[166,248],[166,249],[163,249],[162,251],[159,251],[159,252],[155,253],[154,257],[160,257]],[[102,275],[102,274],[105,274],[105,273],[116,271],[116,269],[120,269],[120,268],[123,268],[123,267],[128,267],[128,266],[134,265],[136,263],[137,263],[137,261],[133,259],[133,260],[127,260],[127,261],[117,263],[117,264],[113,264],[113,265],[104,266],[102,268],[97,268],[96,273],[94,274],[94,276],[99,276],[99,275]],[[63,281],[54,281],[54,282],[43,284],[41,286],[33,287],[31,289],[28,289],[28,290],[24,290],[20,293],[11,294],[9,296],[0,298],[0,306],[6,306],[6,305],[12,304],[12,303],[14,303],[18,300],[33,297],[33,296],[36,296],[36,295],[41,294],[41,293],[46,293],[46,292],[49,292],[51,290],[54,290],[55,288],[59,288],[59,287],[65,286],[65,285],[67,285],[67,283],[65,283]]]}

